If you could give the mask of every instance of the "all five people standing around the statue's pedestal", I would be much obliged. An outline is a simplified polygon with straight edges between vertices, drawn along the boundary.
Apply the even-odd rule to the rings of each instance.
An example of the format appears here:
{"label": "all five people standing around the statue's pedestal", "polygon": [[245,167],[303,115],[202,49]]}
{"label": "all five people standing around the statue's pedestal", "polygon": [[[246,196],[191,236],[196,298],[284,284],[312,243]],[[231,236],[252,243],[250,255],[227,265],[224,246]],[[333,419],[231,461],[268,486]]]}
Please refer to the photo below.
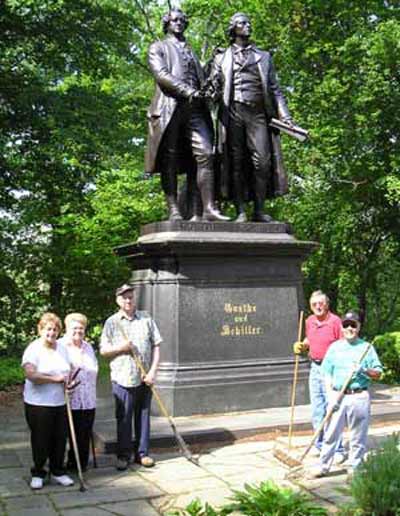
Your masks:
{"label": "all five people standing around the statue's pedestal", "polygon": [[[149,455],[151,387],[160,361],[162,339],[149,314],[136,309],[132,285],[122,285],[115,296],[119,310],[104,324],[100,353],[110,361],[117,421],[117,469],[123,471],[132,461],[144,467],[154,465]],[[312,315],[306,320],[306,337],[294,344],[294,353],[307,352],[310,359],[309,389],[315,430],[320,428],[327,409],[334,408],[332,418],[315,442],[320,466],[312,474],[324,476],[333,461],[341,464],[345,460],[351,473],[360,465],[367,449],[368,387],[372,379],[379,378],[382,365],[373,346],[359,336],[361,325],[357,313],[347,312],[339,318],[331,312],[329,299],[320,290],[311,295],[310,308]],[[82,470],[88,465],[98,364],[92,346],[85,340],[87,318],[80,313],[68,314],[65,335],[58,339],[61,326],[57,315],[45,313],[38,324],[39,338],[29,344],[22,358],[26,375],[25,416],[33,457],[32,489],[43,487],[47,461],[51,480],[63,486],[73,484],[67,475],[68,470],[77,469],[71,442],[65,463],[66,391],[71,401]],[[343,399],[338,403],[338,394],[346,382]],[[342,440],[346,424],[350,429],[348,454]]]}

